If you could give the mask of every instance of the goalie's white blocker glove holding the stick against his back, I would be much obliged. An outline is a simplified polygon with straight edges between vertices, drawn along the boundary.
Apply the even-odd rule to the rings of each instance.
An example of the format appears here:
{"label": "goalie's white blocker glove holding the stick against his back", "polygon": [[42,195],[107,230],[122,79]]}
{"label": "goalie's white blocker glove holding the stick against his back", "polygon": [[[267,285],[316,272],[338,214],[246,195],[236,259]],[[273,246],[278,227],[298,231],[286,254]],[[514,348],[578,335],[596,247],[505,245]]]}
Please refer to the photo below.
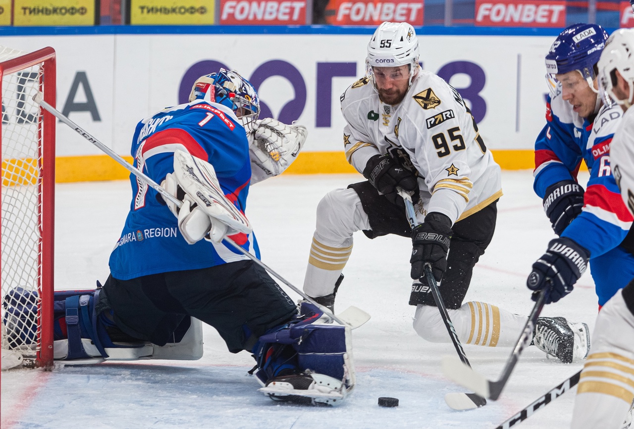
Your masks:
{"label": "goalie's white blocker glove holding the stick against his back", "polygon": [[225,236],[251,233],[249,220],[224,196],[210,163],[176,150],[174,172],[165,176],[161,186],[183,202],[178,207],[165,199],[188,243],[203,238],[219,243]]}

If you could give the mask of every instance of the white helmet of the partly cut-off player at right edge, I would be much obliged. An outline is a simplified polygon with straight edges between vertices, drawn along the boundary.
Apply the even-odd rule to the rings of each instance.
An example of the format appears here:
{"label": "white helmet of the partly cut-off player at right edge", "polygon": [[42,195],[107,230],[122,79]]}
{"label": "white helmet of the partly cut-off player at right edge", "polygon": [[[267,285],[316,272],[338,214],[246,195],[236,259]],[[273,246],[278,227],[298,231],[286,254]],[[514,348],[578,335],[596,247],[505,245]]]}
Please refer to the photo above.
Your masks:
{"label": "white helmet of the partly cut-off player at right edge", "polygon": [[[616,70],[630,87],[627,99],[619,99],[614,95]],[[619,105],[630,107],[634,95],[634,29],[618,29],[607,39],[598,60],[598,81],[607,105],[612,104],[612,99]]]}

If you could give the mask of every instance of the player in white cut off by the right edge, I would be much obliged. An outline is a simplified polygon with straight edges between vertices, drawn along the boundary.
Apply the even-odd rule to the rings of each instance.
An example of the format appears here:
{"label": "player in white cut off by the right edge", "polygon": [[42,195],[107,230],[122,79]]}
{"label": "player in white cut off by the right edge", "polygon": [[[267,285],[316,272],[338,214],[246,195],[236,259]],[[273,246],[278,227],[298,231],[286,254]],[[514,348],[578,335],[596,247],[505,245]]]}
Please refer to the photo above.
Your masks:
{"label": "player in white cut off by the right edge", "polygon": [[[610,167],[621,198],[634,215],[634,30],[614,32],[598,61],[606,105],[624,111],[610,145]],[[634,398],[634,280],[617,291],[597,317],[574,403],[574,429],[626,428]],[[628,409],[630,413],[628,414]],[[623,420],[626,420],[623,423]]]}

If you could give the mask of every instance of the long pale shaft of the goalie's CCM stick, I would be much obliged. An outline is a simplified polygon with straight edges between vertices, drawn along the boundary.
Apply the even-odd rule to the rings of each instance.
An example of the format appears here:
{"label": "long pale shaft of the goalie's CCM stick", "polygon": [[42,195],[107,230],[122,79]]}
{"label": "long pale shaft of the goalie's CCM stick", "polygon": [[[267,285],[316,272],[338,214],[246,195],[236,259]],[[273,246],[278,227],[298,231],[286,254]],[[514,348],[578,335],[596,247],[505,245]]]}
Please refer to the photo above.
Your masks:
{"label": "long pale shaft of the goalie's CCM stick", "polygon": [[[160,195],[162,195],[165,199],[167,199],[170,202],[176,204],[178,207],[181,207],[183,205],[183,202],[181,202],[181,200],[179,200],[178,198],[173,196],[171,193],[167,192],[157,182],[153,181],[152,178],[147,176],[145,173],[143,173],[138,168],[134,167],[134,165],[131,165],[131,163],[129,163],[126,160],[124,160],[124,158],[122,158],[119,155],[117,155],[117,153],[115,153],[115,151],[113,151],[112,149],[108,148],[108,146],[106,146],[105,144],[101,143],[101,141],[99,141],[98,139],[96,139],[93,136],[91,136],[91,134],[89,134],[89,132],[84,130],[79,125],[75,124],[75,122],[70,120],[68,117],[66,117],[63,113],[61,113],[55,107],[53,107],[53,106],[49,105],[48,103],[46,103],[46,101],[44,101],[42,99],[41,93],[37,93],[36,96],[34,96],[34,100],[37,103],[39,103],[42,106],[42,108],[46,109],[48,112],[50,112],[56,118],[61,120],[61,122],[63,122],[64,124],[68,125],[70,128],[74,129],[77,132],[77,134],[79,134],[80,136],[82,136],[84,139],[86,139],[90,143],[93,143],[94,146],[97,146],[102,151],[107,153],[107,155],[109,155],[111,158],[113,158],[113,160],[117,161],[120,165],[125,167],[129,172],[134,174],[134,176],[136,176],[139,179],[141,179],[142,181],[146,182],[146,184],[148,184],[148,186],[150,186],[152,189],[154,189],[155,191],[160,193]],[[326,307],[323,307],[322,305],[317,304],[316,302],[314,302],[313,298],[311,298],[308,295],[306,295],[306,293],[304,293],[304,291],[300,290],[299,288],[296,288],[289,281],[287,281],[282,276],[280,276],[280,274],[278,274],[277,272],[273,271],[273,269],[271,269],[268,266],[266,266],[266,264],[264,264],[264,262],[262,262],[261,260],[257,259],[257,257],[255,255],[252,255],[252,253],[250,253],[249,251],[247,251],[247,250],[243,249],[242,247],[240,247],[239,245],[237,245],[235,243],[235,241],[231,240],[231,238],[225,237],[224,241],[229,243],[232,247],[234,247],[239,252],[243,253],[243,255],[249,257],[249,259],[251,259],[254,262],[256,262],[256,264],[261,266],[263,269],[265,269],[266,271],[268,271],[271,274],[273,274],[273,276],[278,278],[282,283],[284,283],[289,288],[294,290],[296,293],[301,295],[302,298],[304,298],[305,300],[307,300],[311,304],[316,305],[318,307],[318,309],[320,309],[321,311],[324,312],[324,314],[326,314],[326,316],[331,317],[337,323],[340,323],[340,324],[346,325],[346,326],[350,326],[349,323],[346,323],[342,319],[340,319],[339,317],[335,316],[335,314],[333,314],[331,311],[329,311]]]}

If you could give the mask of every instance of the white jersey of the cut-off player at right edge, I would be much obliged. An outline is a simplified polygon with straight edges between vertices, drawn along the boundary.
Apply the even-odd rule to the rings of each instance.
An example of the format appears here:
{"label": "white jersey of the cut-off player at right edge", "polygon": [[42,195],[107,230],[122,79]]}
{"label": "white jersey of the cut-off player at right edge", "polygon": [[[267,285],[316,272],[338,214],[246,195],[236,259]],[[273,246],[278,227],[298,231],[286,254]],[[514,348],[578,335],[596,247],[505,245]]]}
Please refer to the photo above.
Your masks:
{"label": "white jersey of the cut-off player at right edge", "polygon": [[612,175],[625,206],[634,215],[634,107],[623,113],[621,126],[610,143]]}

